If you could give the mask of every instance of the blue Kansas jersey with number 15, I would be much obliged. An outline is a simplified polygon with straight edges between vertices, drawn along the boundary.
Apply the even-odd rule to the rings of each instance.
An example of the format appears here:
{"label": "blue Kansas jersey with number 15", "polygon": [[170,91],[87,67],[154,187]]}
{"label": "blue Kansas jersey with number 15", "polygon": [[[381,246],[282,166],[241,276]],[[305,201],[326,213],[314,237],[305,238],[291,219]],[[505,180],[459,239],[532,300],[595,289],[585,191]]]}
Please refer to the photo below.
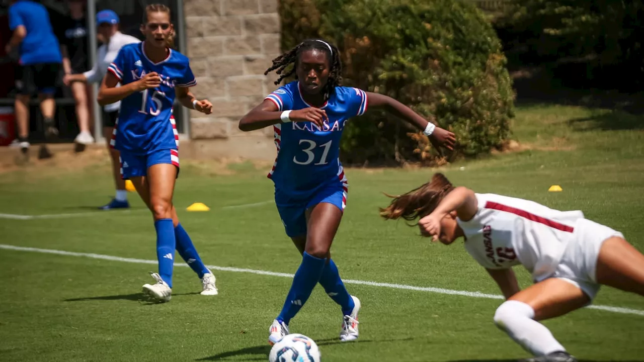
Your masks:
{"label": "blue Kansas jersey with number 15", "polygon": [[144,44],[123,46],[108,67],[121,84],[135,82],[153,71],[161,77],[157,88],[133,93],[121,101],[115,148],[133,155],[178,147],[176,126],[171,119],[175,86],[196,85],[185,55],[170,50],[164,61],[154,63],[143,52]]}

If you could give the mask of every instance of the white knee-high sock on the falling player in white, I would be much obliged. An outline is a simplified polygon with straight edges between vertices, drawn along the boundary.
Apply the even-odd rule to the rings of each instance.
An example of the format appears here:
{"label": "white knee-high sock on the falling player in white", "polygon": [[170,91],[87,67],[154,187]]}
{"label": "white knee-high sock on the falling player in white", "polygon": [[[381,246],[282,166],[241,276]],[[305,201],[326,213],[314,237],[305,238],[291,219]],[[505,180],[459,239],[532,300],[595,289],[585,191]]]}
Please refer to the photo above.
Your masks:
{"label": "white knee-high sock on the falling player in white", "polygon": [[565,352],[550,330],[533,318],[535,310],[532,307],[522,301],[508,300],[498,307],[494,323],[535,356]]}

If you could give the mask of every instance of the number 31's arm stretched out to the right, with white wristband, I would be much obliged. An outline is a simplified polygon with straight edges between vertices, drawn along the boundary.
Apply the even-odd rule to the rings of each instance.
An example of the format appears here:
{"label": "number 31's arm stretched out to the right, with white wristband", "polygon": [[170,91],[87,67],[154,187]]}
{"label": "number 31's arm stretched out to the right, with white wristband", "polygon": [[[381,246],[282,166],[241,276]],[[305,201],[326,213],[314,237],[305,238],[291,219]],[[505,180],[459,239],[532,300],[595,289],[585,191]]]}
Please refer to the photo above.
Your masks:
{"label": "number 31's arm stretched out to the right, with white wristband", "polygon": [[392,97],[380,93],[366,92],[366,94],[369,99],[369,108],[384,108],[384,110],[392,113],[392,115],[410,122],[430,138],[430,142],[435,148],[443,146],[447,149],[454,149],[456,142],[454,133],[428,122],[411,108]]}

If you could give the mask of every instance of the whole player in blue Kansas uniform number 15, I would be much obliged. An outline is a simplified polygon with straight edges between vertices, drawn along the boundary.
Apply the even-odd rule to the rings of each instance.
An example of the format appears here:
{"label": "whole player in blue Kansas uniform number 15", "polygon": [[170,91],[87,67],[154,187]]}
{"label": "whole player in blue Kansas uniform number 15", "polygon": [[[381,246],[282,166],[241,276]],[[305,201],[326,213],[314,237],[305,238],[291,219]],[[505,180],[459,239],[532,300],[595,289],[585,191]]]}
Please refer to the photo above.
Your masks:
{"label": "whole player in blue Kansas uniform number 15", "polygon": [[148,5],[141,31],[146,40],[123,46],[109,65],[98,100],[101,106],[121,101],[115,135],[121,173],[132,180],[155,220],[158,273],[152,274],[156,283],[144,285],[143,292],[156,301],[170,300],[176,248],[202,279],[201,294],[215,295],[214,275],[179,224],[172,204],[179,172],[178,135],[172,117],[175,97],[184,107],[205,114],[212,112],[213,105],[197,100],[188,89],[196,81],[188,58],[172,49],[175,30],[170,9]]}

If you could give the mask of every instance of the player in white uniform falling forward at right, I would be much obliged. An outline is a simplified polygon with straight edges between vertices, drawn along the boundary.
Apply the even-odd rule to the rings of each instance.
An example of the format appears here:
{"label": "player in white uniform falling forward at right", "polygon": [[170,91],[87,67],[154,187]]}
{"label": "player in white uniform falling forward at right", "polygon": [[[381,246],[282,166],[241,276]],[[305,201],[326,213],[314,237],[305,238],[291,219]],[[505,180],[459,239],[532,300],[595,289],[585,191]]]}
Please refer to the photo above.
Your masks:
{"label": "player in white uniform falling forward at right", "polygon": [[[442,174],[381,209],[385,219],[416,220],[423,236],[465,249],[506,297],[497,327],[535,357],[529,362],[574,362],[540,320],[591,303],[600,285],[644,296],[644,255],[623,234],[584,218],[508,196],[454,187]],[[535,284],[521,290],[512,267],[523,265]]]}

